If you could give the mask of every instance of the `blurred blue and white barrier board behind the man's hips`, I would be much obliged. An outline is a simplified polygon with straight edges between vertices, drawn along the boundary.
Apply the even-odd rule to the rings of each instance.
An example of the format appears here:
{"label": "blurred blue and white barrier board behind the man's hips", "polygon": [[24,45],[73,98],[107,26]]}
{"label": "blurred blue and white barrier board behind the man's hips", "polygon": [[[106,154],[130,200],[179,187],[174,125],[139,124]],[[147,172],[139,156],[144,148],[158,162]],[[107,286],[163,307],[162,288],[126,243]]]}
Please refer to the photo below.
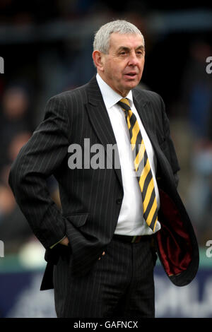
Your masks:
{"label": "blurred blue and white barrier board behind the man's hips", "polygon": [[[40,291],[43,266],[33,268],[18,256],[0,260],[0,315],[9,318],[54,318],[54,291]],[[155,314],[168,318],[212,318],[212,257],[201,249],[201,263],[191,284],[177,287],[157,263],[155,266]]]}

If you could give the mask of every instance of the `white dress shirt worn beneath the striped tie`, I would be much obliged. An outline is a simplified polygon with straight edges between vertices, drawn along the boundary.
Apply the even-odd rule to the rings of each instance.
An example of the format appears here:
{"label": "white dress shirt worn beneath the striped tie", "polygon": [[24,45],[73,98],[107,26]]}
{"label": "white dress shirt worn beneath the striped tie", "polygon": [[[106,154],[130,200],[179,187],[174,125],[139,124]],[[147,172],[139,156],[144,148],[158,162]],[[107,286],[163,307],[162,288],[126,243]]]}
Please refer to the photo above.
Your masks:
{"label": "white dress shirt worn beneath the striped tie", "polygon": [[[105,81],[102,80],[99,74],[96,76],[100,91],[102,93],[105,107],[107,109],[114,136],[117,141],[117,149],[119,151],[119,160],[122,172],[122,183],[124,189],[124,197],[122,201],[121,210],[117,222],[115,234],[119,235],[151,235],[153,230],[146,224],[143,219],[143,201],[141,196],[141,189],[139,187],[139,181],[134,175],[134,160],[131,150],[131,142],[129,137],[129,130],[126,126],[126,120],[124,111],[117,105],[117,102],[122,99],[122,95],[116,93],[110,88]],[[131,111],[134,112],[139,122],[141,135],[148,155],[148,160],[151,165],[153,173],[153,181],[155,184],[155,195],[158,204],[160,206],[160,198],[158,194],[158,186],[155,179],[156,173],[156,158],[151,145],[151,141],[146,134],[143,124],[139,117],[139,114],[134,106],[133,97],[131,91],[129,91],[126,97],[129,99]],[[157,221],[155,226],[155,232],[160,230],[160,223]]]}

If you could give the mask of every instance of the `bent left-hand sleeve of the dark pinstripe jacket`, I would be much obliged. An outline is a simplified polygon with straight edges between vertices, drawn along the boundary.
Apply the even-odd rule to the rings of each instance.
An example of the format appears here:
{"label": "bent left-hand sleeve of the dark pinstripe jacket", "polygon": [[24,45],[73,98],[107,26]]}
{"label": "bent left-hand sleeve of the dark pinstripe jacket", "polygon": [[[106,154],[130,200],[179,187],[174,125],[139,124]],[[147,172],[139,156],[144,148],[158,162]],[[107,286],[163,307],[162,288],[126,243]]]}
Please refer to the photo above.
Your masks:
{"label": "bent left-hand sleeve of the dark pinstripe jacket", "polygon": [[21,148],[9,185],[35,236],[47,249],[66,234],[64,218],[47,189],[47,178],[61,165],[69,146],[66,103],[52,97],[45,118]]}

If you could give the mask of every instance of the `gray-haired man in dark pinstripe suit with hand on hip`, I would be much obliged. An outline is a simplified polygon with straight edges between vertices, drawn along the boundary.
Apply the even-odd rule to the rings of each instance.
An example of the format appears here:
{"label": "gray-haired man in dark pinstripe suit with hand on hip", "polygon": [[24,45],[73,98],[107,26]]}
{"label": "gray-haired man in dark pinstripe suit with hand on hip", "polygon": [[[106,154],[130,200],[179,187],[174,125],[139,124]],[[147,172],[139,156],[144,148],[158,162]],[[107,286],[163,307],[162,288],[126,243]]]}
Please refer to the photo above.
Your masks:
{"label": "gray-haired man in dark pinstripe suit with hand on hip", "polygon": [[[182,286],[196,275],[199,250],[177,194],[179,165],[163,100],[136,88],[143,35],[115,20],[93,45],[97,75],[47,102],[9,183],[47,249],[41,289],[54,287],[58,317],[153,317],[157,254]],[[62,211],[47,191],[51,174]]]}

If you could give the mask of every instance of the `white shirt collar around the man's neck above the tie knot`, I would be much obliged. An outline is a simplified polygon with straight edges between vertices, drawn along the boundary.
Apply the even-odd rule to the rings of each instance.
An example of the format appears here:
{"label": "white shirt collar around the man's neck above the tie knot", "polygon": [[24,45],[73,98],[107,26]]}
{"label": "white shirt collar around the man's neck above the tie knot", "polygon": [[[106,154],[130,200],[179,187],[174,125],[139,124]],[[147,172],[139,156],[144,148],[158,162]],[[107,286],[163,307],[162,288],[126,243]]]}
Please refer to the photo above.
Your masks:
{"label": "white shirt collar around the man's neck above the tie knot", "polygon": [[[110,85],[108,85],[104,80],[102,80],[98,73],[96,75],[96,79],[98,81],[98,85],[102,93],[102,98],[105,102],[105,106],[107,109],[117,104],[117,102],[119,102],[119,100],[123,98],[122,95],[119,95],[119,93],[116,93],[112,88],[110,88]],[[129,91],[128,95],[126,95],[126,98],[129,99],[130,105],[132,106],[133,97],[131,90]]]}

